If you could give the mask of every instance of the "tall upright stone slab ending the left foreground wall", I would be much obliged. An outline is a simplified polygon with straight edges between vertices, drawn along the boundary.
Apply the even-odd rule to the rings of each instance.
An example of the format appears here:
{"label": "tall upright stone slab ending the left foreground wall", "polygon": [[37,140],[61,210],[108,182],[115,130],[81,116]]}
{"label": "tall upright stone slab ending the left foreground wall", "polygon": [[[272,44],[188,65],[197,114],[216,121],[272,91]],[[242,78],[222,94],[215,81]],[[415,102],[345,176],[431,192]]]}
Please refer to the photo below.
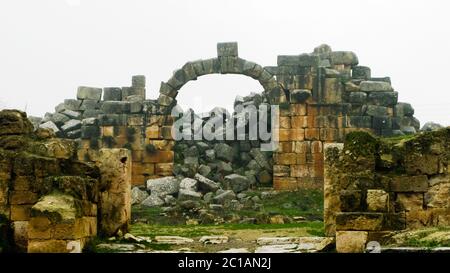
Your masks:
{"label": "tall upright stone slab ending the left foreground wall", "polygon": [[101,149],[96,164],[101,173],[99,234],[126,233],[131,219],[131,153]]}

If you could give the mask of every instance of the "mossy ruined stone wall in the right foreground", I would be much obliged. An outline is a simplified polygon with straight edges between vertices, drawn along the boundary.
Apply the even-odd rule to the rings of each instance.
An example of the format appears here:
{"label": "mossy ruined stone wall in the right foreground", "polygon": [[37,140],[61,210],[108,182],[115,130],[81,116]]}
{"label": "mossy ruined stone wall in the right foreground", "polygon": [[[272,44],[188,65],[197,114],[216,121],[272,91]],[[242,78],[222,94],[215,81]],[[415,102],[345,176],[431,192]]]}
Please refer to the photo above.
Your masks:
{"label": "mossy ruined stone wall in the right foreground", "polygon": [[325,145],[325,230],[340,252],[392,231],[450,226],[450,128],[403,138],[348,134]]}

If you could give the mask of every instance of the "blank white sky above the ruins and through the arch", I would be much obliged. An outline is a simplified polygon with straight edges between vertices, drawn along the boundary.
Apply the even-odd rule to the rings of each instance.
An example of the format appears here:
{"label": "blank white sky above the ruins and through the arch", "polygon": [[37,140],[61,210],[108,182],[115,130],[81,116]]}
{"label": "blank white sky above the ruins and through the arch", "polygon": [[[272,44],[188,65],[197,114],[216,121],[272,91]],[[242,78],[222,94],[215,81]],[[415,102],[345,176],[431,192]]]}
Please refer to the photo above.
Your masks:
{"label": "blank white sky above the ruins and through the arch", "polygon": [[[43,115],[79,85],[129,86],[135,74],[154,99],[173,70],[216,56],[217,42],[239,42],[240,57],[263,66],[327,43],[390,76],[422,124],[450,125],[449,12],[446,0],[2,0],[0,108]],[[202,111],[251,91],[261,91],[251,78],[204,76],[178,100]]]}

